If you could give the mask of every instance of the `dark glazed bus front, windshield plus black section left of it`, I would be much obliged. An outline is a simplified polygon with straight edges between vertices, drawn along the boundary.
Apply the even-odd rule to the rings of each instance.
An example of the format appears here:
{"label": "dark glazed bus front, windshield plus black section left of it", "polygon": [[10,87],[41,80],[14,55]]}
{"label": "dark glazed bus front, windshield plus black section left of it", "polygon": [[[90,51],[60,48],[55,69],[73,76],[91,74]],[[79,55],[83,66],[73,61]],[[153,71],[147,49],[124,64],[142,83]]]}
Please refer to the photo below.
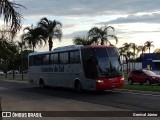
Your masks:
{"label": "dark glazed bus front, windshield plus black section left of it", "polygon": [[114,47],[83,49],[82,56],[85,76],[89,79],[122,75],[119,53]]}

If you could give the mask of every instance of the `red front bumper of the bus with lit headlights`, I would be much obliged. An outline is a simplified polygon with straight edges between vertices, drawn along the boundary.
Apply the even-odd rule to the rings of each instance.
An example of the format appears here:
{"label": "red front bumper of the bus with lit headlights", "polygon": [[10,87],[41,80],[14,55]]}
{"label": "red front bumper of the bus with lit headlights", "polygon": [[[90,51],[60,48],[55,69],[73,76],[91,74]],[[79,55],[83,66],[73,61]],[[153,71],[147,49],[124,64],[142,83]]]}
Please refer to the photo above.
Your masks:
{"label": "red front bumper of the bus with lit headlights", "polygon": [[96,79],[96,90],[111,90],[114,88],[122,88],[124,86],[124,78],[98,78]]}

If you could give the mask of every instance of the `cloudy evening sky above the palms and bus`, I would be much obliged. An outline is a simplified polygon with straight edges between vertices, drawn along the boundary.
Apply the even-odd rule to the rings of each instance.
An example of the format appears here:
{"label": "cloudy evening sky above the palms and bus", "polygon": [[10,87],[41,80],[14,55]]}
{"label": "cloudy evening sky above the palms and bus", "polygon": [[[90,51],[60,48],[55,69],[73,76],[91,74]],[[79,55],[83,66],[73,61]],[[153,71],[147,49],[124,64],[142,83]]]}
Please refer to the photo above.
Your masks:
{"label": "cloudy evening sky above the palms and bus", "polygon": [[[160,48],[160,0],[10,0],[25,6],[23,28],[37,25],[47,17],[62,23],[62,41],[54,40],[54,48],[72,45],[75,36],[85,36],[92,27],[113,26],[118,37],[117,47],[123,43],[144,45],[153,41]],[[114,40],[111,40],[115,44]],[[36,48],[48,51],[48,45]]]}

